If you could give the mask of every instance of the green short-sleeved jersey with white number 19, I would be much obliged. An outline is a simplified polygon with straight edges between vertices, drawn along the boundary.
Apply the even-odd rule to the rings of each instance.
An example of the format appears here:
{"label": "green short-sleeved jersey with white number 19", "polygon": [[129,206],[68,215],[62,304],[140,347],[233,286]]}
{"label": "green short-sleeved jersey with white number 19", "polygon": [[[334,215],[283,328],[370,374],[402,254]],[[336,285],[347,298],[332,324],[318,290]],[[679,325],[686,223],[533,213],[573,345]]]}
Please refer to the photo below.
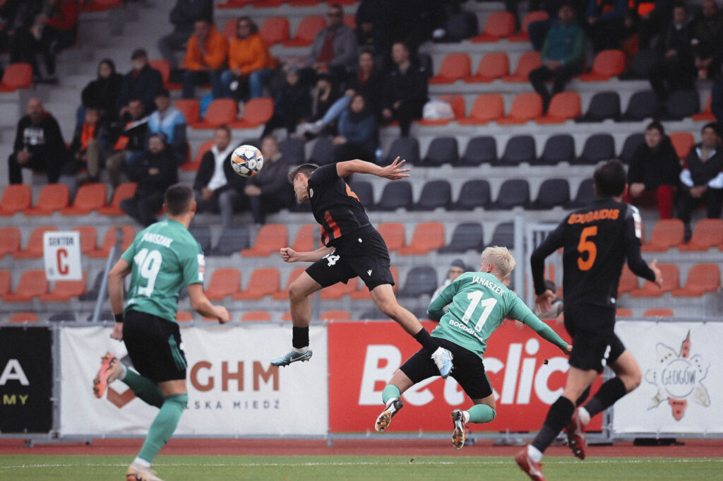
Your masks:
{"label": "green short-sleeved jersey with white number 19", "polygon": [[138,310],[176,322],[181,287],[203,284],[201,246],[171,219],[140,231],[122,257],[132,266],[124,312]]}

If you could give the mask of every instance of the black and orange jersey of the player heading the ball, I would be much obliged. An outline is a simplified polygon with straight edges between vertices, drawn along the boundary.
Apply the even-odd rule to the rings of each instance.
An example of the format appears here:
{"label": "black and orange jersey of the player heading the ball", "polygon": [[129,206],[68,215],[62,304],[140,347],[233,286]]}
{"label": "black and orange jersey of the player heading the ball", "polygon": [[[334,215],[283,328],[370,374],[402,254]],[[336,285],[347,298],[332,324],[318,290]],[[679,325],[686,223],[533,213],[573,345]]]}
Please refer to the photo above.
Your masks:
{"label": "black and orange jersey of the player heading the ball", "polygon": [[336,246],[340,237],[371,225],[359,197],[339,178],[335,163],[313,171],[307,189],[325,246]]}

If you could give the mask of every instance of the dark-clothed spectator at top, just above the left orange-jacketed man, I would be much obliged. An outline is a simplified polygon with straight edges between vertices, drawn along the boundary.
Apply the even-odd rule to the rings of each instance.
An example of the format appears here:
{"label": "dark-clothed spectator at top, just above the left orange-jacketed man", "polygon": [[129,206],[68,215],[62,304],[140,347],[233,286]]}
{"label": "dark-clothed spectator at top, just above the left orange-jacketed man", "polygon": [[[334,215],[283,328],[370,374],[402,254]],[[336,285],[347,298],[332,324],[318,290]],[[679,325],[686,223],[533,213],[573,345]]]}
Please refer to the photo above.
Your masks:
{"label": "dark-clothed spectator at top, just above the left orange-jacketed man", "polygon": [[174,31],[161,37],[158,41],[158,50],[161,51],[161,56],[171,64],[171,69],[179,68],[175,51],[184,49],[186,42],[193,34],[196,20],[210,22],[212,19],[213,0],[176,0],[176,5],[170,15]]}

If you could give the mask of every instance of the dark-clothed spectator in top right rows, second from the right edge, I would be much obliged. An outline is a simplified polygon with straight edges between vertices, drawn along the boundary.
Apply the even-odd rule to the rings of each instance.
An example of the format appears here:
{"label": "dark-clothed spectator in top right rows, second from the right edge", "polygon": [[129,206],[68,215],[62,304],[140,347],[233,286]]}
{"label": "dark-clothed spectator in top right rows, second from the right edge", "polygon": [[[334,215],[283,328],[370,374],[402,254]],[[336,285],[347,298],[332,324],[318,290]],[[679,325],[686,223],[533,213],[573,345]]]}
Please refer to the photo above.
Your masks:
{"label": "dark-clothed spectator in top right rows, second from the right edge", "polygon": [[692,88],[693,85],[693,51],[690,47],[688,7],[685,4],[673,7],[673,20],[661,40],[658,46],[659,59],[650,68],[648,77],[659,104],[663,105],[670,93]]}

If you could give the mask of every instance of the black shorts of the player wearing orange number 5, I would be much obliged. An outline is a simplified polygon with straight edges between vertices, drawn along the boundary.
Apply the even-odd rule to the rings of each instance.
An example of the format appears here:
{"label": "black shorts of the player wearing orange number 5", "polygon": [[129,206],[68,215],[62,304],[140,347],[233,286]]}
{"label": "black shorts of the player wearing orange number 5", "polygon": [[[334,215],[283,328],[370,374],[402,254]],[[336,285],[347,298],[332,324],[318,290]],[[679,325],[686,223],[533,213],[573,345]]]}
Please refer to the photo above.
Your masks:
{"label": "black shorts of the player wearing orange number 5", "polygon": [[615,334],[615,309],[593,305],[565,305],[565,328],[573,338],[570,365],[602,373],[625,351]]}

